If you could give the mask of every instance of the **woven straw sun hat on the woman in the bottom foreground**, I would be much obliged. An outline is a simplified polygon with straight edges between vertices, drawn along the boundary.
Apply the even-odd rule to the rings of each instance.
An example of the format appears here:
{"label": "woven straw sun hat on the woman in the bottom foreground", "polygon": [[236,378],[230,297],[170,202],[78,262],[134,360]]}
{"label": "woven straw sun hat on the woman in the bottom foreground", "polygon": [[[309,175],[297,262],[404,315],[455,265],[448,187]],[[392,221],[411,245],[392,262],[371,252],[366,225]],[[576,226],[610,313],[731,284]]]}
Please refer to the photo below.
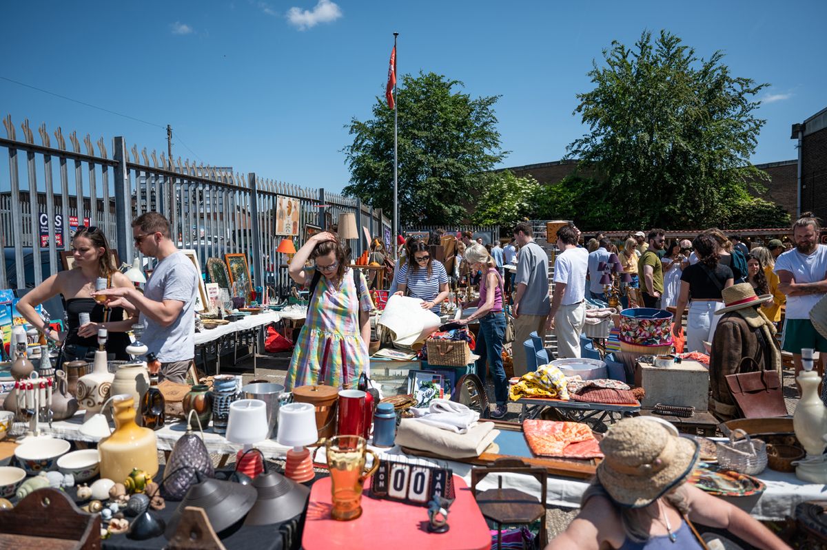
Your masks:
{"label": "woven straw sun hat on the woman in the bottom foreground", "polygon": [[[672,429],[670,429],[672,428]],[[642,508],[686,480],[699,444],[648,417],[620,420],[600,441],[600,485],[617,504]]]}

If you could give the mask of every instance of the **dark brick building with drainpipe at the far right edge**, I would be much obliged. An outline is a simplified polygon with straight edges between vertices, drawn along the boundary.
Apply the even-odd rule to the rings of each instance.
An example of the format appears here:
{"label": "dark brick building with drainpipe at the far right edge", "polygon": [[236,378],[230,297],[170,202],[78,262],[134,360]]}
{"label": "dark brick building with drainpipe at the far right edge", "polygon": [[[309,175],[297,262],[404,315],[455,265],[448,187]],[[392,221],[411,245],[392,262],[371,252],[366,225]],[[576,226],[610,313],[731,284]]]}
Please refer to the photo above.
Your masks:
{"label": "dark brick building with drainpipe at the far right edge", "polygon": [[827,220],[827,108],[792,125],[791,139],[798,140],[801,211]]}

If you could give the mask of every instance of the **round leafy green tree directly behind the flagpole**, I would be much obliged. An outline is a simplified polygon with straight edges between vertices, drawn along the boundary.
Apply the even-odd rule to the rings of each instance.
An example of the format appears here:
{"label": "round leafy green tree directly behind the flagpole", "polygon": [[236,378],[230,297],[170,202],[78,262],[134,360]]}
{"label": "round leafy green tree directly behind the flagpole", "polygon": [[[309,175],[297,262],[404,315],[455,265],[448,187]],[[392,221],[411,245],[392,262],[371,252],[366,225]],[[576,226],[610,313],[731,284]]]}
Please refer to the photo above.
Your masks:
{"label": "round leafy green tree directly behind the flagpole", "polygon": [[[451,225],[466,217],[462,197],[481,189],[485,173],[501,159],[494,104],[498,97],[458,92],[462,83],[435,73],[405,74],[397,88],[399,109],[399,221]],[[384,94],[373,118],[351,119],[353,143],[344,152],[351,182],[344,192],[394,208],[394,111]]]}

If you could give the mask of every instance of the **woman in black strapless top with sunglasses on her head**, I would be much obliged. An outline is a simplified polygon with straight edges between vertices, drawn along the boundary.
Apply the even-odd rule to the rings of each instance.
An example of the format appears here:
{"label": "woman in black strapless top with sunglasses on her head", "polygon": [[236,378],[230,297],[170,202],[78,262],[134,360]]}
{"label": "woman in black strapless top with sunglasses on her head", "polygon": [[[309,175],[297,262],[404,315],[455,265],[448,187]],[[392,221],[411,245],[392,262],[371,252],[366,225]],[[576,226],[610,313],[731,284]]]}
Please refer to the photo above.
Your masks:
{"label": "woman in black strapless top with sunglasses on her head", "polygon": [[[17,302],[17,311],[30,325],[44,330],[47,327],[43,326],[35,307],[52,296],[63,295],[69,332],[58,334],[55,330],[45,331],[49,339],[55,342],[63,340],[58,367],[64,361],[87,359],[88,356],[93,358],[94,351],[98,349],[99,329],[108,331],[106,348],[109,357],[128,361],[130,339],[127,331],[137,322],[137,315],[127,315],[121,307],[104,307],[92,297],[98,277],[107,279],[107,287],[132,286],[126,275],[112,268],[109,243],[103,231],[97,227],[79,227],[72,239],[72,258],[74,268],[52,275],[26,293]],[[89,315],[88,323],[80,324],[81,314]]]}

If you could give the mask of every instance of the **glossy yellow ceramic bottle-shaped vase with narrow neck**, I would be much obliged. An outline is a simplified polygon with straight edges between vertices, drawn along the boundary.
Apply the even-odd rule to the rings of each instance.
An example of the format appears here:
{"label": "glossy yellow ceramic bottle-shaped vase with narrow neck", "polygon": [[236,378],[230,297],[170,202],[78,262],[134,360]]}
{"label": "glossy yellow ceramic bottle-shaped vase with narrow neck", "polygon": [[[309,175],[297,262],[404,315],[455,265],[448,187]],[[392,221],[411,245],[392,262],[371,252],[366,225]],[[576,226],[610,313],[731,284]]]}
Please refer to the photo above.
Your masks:
{"label": "glossy yellow ceramic bottle-shaped vase with narrow neck", "polygon": [[98,443],[101,477],[123,483],[132,468],[155,476],[158,473],[158,444],[155,432],[135,422],[134,398],[123,394],[112,397],[115,431]]}

